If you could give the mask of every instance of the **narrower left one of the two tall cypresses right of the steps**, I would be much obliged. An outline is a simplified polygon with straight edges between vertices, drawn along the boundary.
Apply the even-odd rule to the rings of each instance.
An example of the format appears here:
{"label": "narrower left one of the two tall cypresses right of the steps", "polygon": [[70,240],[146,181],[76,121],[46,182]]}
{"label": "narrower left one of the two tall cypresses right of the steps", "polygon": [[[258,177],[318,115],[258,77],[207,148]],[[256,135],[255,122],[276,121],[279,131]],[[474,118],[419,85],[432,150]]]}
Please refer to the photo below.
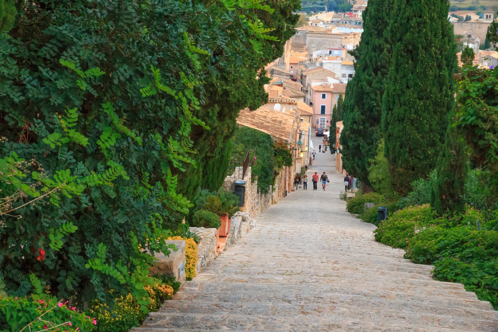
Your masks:
{"label": "narrower left one of the two tall cypresses right of the steps", "polygon": [[391,62],[387,26],[393,0],[370,0],[363,13],[364,32],[358,47],[355,76],[346,88],[341,145],[344,168],[370,186],[368,168],[380,139],[382,95]]}

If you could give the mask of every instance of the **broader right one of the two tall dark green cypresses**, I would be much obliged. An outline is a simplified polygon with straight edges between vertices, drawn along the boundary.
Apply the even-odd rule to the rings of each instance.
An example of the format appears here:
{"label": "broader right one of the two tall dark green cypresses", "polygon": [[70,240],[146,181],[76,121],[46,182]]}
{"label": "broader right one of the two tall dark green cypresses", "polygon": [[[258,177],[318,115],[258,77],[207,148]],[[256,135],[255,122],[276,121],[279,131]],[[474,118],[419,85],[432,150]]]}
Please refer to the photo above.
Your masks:
{"label": "broader right one of the two tall dark green cypresses", "polygon": [[454,106],[457,59],[448,8],[447,0],[394,1],[382,131],[393,186],[400,194],[435,168]]}

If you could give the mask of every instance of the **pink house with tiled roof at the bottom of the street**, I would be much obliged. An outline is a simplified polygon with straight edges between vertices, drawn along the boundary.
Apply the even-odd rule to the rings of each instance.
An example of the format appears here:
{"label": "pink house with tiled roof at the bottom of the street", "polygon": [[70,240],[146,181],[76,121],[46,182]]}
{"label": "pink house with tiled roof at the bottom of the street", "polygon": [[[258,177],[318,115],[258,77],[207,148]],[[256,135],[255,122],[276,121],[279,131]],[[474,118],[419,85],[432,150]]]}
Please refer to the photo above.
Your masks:
{"label": "pink house with tiled roof at the bottom of the street", "polygon": [[[322,83],[311,87],[311,107],[313,108],[313,126],[330,128],[332,109],[337,104],[339,95],[346,93],[346,83]],[[317,123],[318,122],[318,123]]]}

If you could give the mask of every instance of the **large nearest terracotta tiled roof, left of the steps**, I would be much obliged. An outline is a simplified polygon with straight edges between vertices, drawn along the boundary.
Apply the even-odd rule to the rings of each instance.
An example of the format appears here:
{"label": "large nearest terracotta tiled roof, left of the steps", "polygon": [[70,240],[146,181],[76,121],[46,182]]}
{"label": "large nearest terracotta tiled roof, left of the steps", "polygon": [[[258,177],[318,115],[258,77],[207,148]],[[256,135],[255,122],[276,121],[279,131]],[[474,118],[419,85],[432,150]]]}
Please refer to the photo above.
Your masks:
{"label": "large nearest terracotta tiled roof, left of the steps", "polygon": [[288,142],[292,134],[295,135],[297,131],[296,117],[294,110],[281,112],[260,107],[256,111],[241,110],[237,123]]}

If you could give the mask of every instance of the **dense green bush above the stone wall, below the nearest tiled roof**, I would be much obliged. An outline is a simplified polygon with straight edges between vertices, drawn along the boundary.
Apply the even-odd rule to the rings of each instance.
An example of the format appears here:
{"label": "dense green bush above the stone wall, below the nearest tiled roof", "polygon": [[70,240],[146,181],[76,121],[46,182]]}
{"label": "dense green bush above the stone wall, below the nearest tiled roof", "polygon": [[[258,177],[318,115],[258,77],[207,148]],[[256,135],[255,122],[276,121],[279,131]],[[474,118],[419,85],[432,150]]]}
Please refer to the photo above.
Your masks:
{"label": "dense green bush above the stone wall, below the nearest tiled roof", "polygon": [[234,136],[232,158],[242,162],[248,150],[252,160],[251,175],[257,178],[258,191],[267,194],[275,182],[274,171],[278,169],[271,136],[249,127],[239,127]]}

